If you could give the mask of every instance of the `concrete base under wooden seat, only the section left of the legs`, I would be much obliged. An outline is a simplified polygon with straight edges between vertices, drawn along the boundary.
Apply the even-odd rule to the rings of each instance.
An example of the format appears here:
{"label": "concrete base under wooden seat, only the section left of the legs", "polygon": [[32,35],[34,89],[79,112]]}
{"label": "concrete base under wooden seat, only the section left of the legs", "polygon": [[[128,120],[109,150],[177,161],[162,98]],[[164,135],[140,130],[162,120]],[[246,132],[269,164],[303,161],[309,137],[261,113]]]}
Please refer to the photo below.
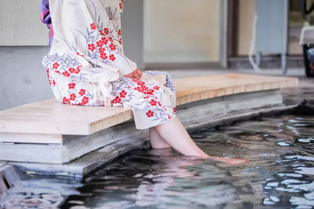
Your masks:
{"label": "concrete base under wooden seat, only the section left of the legs", "polygon": [[[66,136],[63,145],[0,144],[3,161],[64,164],[116,141],[134,137],[147,130],[137,130],[134,122],[108,128],[89,136]],[[14,154],[12,154],[14,152]]]}

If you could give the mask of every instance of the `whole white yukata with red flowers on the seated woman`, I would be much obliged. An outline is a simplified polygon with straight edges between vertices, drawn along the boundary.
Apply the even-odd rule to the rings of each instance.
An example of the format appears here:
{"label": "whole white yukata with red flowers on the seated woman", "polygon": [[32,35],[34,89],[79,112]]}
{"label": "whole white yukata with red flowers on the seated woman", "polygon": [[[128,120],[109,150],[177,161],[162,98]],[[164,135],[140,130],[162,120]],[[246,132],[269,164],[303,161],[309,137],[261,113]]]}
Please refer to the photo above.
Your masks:
{"label": "whole white yukata with red flowers on the seated woman", "polygon": [[42,0],[50,29],[42,63],[59,102],[131,108],[136,127],[146,129],[176,118],[176,96],[153,79],[123,76],[137,66],[123,54],[122,10],[123,0]]}

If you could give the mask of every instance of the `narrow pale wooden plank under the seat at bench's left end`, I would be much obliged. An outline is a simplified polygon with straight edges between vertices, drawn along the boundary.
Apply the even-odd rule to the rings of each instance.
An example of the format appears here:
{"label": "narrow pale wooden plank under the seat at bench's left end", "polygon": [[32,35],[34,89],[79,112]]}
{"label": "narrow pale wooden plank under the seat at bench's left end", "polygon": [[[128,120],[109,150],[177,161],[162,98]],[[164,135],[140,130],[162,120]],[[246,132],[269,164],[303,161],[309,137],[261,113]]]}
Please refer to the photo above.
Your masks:
{"label": "narrow pale wooden plank under the seat at bench's left end", "polygon": [[62,144],[60,134],[0,133],[2,143]]}

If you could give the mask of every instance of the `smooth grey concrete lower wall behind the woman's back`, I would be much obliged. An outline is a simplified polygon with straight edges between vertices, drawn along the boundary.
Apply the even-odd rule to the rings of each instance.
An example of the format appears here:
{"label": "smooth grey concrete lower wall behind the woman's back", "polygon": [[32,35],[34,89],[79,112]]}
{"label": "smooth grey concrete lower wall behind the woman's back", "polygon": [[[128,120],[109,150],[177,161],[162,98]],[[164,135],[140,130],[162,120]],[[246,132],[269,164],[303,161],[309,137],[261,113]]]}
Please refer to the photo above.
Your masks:
{"label": "smooth grey concrete lower wall behind the woman's back", "polygon": [[53,98],[41,65],[49,47],[0,47],[0,110]]}

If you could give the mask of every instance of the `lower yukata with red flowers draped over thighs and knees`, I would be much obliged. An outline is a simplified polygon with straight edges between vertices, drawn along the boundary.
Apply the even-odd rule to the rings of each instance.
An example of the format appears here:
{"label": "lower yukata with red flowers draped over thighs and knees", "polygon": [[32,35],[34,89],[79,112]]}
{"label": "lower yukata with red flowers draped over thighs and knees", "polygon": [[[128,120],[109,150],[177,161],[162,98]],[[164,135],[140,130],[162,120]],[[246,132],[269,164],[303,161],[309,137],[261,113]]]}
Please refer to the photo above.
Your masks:
{"label": "lower yukata with red flowers draped over thighs and knees", "polygon": [[152,127],[152,124],[159,125],[176,117],[174,102],[170,100],[171,97],[175,98],[175,94],[161,84],[121,76],[119,80],[112,82],[112,85],[112,104],[130,107],[135,123]]}

